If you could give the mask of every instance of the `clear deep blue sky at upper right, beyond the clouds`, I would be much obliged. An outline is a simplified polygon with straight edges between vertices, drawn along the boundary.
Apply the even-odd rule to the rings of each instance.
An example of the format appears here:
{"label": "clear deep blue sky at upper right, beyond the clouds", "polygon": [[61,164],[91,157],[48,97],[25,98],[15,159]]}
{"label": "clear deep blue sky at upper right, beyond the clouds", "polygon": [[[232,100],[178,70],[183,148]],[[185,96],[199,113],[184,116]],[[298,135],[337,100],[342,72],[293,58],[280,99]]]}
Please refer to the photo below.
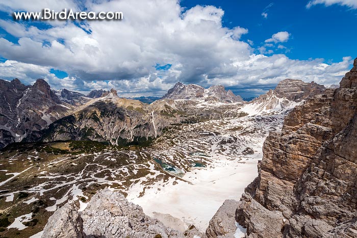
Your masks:
{"label": "clear deep blue sky at upper right, beyond the clouds", "polygon": [[[290,49],[286,55],[292,59],[323,58],[328,63],[338,62],[348,55],[357,57],[357,10],[338,4],[328,7],[318,4],[308,9],[308,3],[286,0],[182,1],[187,8],[197,4],[222,8],[223,25],[240,25],[248,29],[249,33],[242,39],[250,39],[256,45],[276,32],[291,33],[285,46]],[[267,13],[266,18],[262,16],[263,12]]]}

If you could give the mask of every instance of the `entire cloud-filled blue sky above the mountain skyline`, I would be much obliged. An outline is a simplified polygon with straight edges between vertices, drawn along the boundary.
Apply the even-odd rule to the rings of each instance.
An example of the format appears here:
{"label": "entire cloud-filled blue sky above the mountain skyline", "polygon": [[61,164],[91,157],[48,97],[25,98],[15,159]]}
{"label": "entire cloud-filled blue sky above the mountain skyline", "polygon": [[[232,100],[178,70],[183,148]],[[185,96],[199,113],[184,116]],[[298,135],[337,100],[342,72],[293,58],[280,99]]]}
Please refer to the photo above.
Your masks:
{"label": "entire cloud-filled blue sky above the mountain skyline", "polygon": [[[14,21],[14,11],[122,11],[122,21]],[[0,1],[0,78],[160,96],[176,82],[258,96],[285,78],[338,84],[357,57],[357,0]]]}

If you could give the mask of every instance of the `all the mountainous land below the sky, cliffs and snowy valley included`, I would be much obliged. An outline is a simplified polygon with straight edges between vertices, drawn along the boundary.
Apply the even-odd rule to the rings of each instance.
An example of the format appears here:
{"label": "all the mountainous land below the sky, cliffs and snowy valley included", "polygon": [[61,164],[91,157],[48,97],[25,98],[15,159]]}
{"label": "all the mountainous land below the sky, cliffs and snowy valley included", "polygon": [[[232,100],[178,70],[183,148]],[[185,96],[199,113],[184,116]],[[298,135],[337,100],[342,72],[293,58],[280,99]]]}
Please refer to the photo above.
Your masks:
{"label": "all the mountainous land below the sky, cliffs and snowy valley included", "polygon": [[147,104],[0,81],[0,235],[355,237],[356,72],[250,102],[222,86]]}

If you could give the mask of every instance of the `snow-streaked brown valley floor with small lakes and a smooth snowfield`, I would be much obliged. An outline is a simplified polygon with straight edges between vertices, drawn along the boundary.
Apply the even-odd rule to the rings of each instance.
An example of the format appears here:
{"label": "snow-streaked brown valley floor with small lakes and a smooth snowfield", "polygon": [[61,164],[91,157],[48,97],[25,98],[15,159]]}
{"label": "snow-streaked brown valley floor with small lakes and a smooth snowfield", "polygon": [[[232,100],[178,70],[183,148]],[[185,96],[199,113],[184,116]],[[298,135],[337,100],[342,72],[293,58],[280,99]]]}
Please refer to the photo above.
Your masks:
{"label": "snow-streaked brown valley floor with small lakes and a smooth snowfield", "polygon": [[148,147],[10,147],[0,153],[0,213],[9,222],[0,235],[34,235],[58,206],[72,200],[83,210],[105,187],[122,191],[172,228],[194,224],[204,231],[223,201],[238,200],[257,176],[263,142],[269,131],[281,129],[284,115],[177,125]]}

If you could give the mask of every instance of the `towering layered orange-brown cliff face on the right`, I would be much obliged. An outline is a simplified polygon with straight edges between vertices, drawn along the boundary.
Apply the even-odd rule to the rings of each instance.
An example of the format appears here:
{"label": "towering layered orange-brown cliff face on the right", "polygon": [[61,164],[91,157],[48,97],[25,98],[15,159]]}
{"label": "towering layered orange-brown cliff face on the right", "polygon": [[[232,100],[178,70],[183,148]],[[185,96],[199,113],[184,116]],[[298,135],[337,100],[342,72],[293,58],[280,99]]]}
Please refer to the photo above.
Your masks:
{"label": "towering layered orange-brown cliff face on the right", "polygon": [[236,220],[247,237],[357,236],[357,59],[339,89],[296,107],[263,146]]}

